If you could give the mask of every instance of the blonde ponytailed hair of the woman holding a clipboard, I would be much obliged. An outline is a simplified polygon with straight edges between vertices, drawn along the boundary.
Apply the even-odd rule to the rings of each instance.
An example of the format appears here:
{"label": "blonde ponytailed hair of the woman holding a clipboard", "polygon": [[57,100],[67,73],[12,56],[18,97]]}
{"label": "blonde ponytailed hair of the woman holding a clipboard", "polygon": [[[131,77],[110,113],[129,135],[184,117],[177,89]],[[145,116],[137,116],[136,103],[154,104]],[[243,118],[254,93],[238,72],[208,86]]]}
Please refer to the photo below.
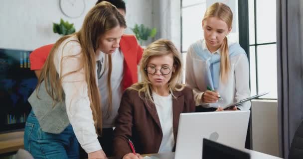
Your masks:
{"label": "blonde ponytailed hair of the woman holding a clipboard", "polygon": [[[204,14],[203,21],[209,17],[217,17],[226,22],[228,28],[231,28],[233,21],[233,13],[229,6],[224,3],[216,2],[209,6]],[[230,71],[230,60],[227,38],[225,37],[220,46],[221,60],[220,60],[220,75],[221,80],[225,82],[228,79]]]}

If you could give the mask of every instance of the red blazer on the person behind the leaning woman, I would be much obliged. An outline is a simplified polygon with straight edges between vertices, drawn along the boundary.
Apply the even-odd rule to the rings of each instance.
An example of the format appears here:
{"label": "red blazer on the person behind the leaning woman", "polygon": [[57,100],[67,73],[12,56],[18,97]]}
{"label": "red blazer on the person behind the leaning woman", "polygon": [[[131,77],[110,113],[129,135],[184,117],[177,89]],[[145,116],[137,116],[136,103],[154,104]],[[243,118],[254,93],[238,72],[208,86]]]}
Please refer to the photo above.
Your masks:
{"label": "red blazer on the person behind the leaning woman", "polygon": [[[53,44],[42,46],[29,55],[30,70],[41,70]],[[124,55],[123,90],[138,82],[137,65],[142,58],[143,49],[134,35],[122,35],[120,49]]]}

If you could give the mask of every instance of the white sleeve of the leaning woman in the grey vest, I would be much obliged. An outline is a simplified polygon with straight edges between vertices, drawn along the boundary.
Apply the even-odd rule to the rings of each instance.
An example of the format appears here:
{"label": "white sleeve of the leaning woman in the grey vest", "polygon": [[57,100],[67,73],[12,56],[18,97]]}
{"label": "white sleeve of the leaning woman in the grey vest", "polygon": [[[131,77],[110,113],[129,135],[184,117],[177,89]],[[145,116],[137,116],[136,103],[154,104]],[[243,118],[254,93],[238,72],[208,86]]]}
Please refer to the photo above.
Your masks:
{"label": "white sleeve of the leaning woman in the grey vest", "polygon": [[[54,65],[60,79],[63,78],[62,87],[65,93],[68,119],[81,147],[86,153],[91,153],[101,150],[102,148],[95,131],[90,100],[88,97],[88,88],[85,81],[85,73],[83,68],[80,68],[81,58],[81,46],[78,39],[75,36],[70,37],[64,40],[57,49],[57,52],[54,55]],[[99,59],[100,57],[98,54],[96,60]],[[80,69],[80,71],[62,77],[63,75],[78,69]]]}

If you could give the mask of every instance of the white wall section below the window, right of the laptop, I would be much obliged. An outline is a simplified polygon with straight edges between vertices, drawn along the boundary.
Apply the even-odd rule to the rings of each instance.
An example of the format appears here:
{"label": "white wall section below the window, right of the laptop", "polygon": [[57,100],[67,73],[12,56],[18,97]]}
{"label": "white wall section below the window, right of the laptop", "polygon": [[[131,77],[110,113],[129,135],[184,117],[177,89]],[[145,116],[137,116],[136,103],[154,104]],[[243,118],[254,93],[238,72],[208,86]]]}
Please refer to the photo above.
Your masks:
{"label": "white wall section below the window, right of the laptop", "polygon": [[279,156],[277,100],[252,101],[253,150]]}

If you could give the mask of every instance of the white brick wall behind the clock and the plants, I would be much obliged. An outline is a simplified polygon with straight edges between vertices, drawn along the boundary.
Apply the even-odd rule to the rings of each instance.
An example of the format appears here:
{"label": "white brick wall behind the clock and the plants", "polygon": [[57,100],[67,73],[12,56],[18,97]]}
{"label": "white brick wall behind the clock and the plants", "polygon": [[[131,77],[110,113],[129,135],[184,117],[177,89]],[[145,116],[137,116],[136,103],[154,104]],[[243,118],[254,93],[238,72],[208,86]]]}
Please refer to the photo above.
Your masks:
{"label": "white brick wall behind the clock and the plants", "polygon": [[[54,43],[60,35],[53,33],[52,23],[60,18],[81,28],[84,16],[97,0],[85,0],[85,11],[78,18],[68,18],[59,0],[2,0],[0,5],[0,48],[33,50]],[[126,0],[129,27],[135,23],[153,26],[153,0]]]}

